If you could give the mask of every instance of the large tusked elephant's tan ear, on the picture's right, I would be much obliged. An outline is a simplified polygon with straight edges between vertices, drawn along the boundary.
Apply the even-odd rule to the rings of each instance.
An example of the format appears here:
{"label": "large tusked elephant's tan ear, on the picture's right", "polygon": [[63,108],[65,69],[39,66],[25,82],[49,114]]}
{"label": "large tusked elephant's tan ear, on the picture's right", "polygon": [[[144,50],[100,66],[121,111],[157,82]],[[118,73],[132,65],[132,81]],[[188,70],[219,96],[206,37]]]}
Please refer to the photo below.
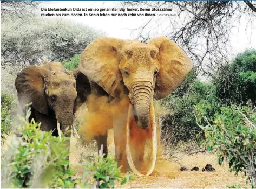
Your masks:
{"label": "large tusked elephant's tan ear, on the picture's right", "polygon": [[155,83],[155,97],[162,99],[180,85],[193,64],[186,53],[167,37],[157,37],[147,43],[159,50],[156,59],[160,69]]}

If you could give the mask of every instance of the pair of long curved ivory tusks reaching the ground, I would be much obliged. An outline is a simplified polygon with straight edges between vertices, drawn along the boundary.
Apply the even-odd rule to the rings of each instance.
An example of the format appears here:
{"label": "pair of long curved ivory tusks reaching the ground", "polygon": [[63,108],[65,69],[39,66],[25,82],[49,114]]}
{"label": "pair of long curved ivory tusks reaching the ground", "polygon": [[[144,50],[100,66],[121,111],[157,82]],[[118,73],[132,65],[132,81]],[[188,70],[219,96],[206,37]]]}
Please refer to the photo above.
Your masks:
{"label": "pair of long curved ivory tusks reaching the ground", "polygon": [[[129,105],[128,117],[126,122],[126,156],[127,156],[130,169],[132,169],[132,171],[138,176],[143,176],[144,174],[141,174],[134,166],[133,159],[130,153],[130,117],[131,115],[132,115],[132,104]],[[152,162],[150,163],[150,167],[146,176],[149,176],[153,172],[155,167],[155,162],[156,162],[157,141],[156,141],[156,124],[155,124],[155,112],[154,112],[153,101],[150,103],[150,122],[152,127],[152,159],[151,159]]]}

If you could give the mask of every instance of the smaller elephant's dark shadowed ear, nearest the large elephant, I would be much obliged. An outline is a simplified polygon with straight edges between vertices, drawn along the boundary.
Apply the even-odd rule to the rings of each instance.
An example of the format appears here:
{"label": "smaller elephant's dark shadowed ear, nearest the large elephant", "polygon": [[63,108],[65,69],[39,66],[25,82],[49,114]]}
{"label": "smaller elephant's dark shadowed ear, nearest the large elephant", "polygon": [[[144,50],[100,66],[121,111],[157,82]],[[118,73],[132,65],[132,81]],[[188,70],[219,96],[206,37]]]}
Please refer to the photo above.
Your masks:
{"label": "smaller elephant's dark shadowed ear, nearest the large elephant", "polygon": [[74,104],[74,113],[82,106],[82,104],[87,100],[88,95],[91,92],[90,82],[87,76],[80,72],[79,68],[73,71],[68,71],[70,75],[73,75],[76,79],[76,91],[77,97]]}

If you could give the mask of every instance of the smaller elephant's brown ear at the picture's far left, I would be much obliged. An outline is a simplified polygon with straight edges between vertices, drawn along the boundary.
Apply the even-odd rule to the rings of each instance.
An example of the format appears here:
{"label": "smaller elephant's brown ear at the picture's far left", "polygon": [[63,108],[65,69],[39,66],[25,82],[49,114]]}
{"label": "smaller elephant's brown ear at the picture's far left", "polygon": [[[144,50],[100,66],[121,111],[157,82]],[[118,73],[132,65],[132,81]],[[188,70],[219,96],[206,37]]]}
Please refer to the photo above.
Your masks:
{"label": "smaller elephant's brown ear at the picture's far left", "polygon": [[29,66],[17,74],[15,87],[22,108],[32,102],[32,107],[42,114],[48,115],[48,103],[44,94],[45,80],[54,72],[41,66]]}

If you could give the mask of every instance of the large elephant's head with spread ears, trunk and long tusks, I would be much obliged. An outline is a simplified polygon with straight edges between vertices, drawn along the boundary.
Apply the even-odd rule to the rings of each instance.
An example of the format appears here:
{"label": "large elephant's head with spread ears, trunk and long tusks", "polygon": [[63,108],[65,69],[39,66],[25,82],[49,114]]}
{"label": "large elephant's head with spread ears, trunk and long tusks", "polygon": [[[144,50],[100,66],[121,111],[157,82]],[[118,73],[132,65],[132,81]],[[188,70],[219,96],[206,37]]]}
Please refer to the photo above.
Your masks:
{"label": "large elephant's head with spread ears, trunk and long tusks", "polygon": [[129,117],[133,113],[142,129],[152,124],[153,160],[149,175],[156,160],[153,96],[155,94],[156,99],[162,99],[173,92],[192,69],[192,62],[178,45],[166,37],[157,37],[147,43],[102,37],[83,51],[79,68],[115,99],[129,96],[126,152],[130,168],[139,175],[130,156]]}

